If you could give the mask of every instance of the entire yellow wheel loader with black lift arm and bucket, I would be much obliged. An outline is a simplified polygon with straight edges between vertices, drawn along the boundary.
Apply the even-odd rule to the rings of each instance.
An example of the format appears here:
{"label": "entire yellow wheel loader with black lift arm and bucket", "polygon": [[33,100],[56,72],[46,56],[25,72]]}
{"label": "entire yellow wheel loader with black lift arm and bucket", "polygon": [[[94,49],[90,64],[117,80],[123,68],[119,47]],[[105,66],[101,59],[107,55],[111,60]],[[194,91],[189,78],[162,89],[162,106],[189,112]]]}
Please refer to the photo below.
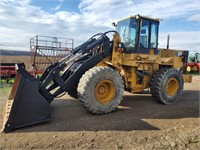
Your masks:
{"label": "entire yellow wheel loader with black lift arm and bucket", "polygon": [[192,80],[185,74],[188,51],[158,49],[159,19],[135,15],[115,26],[74,48],[40,78],[16,66],[3,132],[50,120],[50,103],[65,92],[97,115],[114,111],[124,91],[150,88],[163,104],[180,100],[184,82]]}

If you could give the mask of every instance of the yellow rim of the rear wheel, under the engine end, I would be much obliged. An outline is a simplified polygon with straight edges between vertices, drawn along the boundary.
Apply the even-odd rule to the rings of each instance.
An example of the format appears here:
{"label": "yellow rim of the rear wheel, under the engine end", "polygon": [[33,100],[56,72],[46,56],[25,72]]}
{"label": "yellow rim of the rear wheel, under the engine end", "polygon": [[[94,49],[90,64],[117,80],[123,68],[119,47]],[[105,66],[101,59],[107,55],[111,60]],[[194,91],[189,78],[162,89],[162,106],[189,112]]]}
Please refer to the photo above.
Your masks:
{"label": "yellow rim of the rear wheel, under the engine end", "polygon": [[178,90],[178,80],[175,78],[171,78],[168,80],[167,84],[166,84],[166,92],[169,96],[173,96],[176,94],[177,90]]}

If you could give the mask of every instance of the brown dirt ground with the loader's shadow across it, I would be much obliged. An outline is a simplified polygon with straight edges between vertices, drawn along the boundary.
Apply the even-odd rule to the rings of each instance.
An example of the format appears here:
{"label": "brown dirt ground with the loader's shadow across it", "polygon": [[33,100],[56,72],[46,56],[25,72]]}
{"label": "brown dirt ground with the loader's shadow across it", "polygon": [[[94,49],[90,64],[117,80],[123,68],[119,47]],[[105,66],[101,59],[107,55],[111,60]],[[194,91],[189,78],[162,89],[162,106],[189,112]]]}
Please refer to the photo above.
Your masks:
{"label": "brown dirt ground with the loader's shadow across it", "polygon": [[[95,116],[67,95],[52,102],[47,123],[0,133],[0,149],[200,149],[200,76],[181,101],[163,105],[149,92],[125,93],[118,110]],[[2,93],[0,113],[9,92]],[[22,118],[23,119],[23,118]],[[0,117],[2,124],[2,116]]]}

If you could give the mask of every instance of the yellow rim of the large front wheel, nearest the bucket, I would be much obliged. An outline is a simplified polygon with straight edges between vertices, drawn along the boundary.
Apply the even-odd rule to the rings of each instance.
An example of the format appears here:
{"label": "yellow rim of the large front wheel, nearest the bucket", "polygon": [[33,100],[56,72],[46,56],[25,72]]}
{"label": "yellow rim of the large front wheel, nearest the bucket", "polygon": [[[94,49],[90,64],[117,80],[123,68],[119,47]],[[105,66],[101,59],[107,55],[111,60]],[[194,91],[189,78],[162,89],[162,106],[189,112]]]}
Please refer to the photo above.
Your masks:
{"label": "yellow rim of the large front wheel, nearest the bucket", "polygon": [[101,104],[107,104],[115,96],[115,87],[111,80],[102,80],[95,87],[96,100]]}

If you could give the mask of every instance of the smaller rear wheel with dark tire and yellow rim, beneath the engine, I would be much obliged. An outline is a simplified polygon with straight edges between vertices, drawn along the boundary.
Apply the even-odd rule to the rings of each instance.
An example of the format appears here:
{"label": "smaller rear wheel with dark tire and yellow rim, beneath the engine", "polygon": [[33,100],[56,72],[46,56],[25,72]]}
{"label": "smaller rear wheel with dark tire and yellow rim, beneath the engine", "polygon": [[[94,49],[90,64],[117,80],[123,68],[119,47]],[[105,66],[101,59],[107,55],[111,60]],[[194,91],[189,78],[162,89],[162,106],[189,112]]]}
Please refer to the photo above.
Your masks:
{"label": "smaller rear wheel with dark tire and yellow rim, beneath the engine", "polygon": [[181,73],[173,68],[158,70],[150,81],[152,97],[163,104],[177,102],[183,93]]}

